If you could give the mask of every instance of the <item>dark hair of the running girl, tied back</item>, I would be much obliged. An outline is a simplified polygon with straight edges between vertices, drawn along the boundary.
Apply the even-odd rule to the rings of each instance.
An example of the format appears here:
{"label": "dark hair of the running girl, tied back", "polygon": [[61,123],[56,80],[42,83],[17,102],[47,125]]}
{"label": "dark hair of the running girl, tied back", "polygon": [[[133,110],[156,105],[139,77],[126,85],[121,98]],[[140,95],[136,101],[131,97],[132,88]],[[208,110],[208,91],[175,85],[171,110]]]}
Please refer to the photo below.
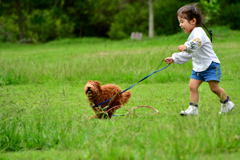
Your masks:
{"label": "dark hair of the running girl, tied back", "polygon": [[188,22],[190,22],[193,18],[196,19],[196,25],[200,27],[203,25],[203,27],[208,31],[208,33],[211,36],[212,41],[212,30],[208,30],[205,24],[203,23],[203,16],[201,12],[199,11],[197,4],[188,4],[178,9],[177,16],[182,17],[184,19],[187,19]]}

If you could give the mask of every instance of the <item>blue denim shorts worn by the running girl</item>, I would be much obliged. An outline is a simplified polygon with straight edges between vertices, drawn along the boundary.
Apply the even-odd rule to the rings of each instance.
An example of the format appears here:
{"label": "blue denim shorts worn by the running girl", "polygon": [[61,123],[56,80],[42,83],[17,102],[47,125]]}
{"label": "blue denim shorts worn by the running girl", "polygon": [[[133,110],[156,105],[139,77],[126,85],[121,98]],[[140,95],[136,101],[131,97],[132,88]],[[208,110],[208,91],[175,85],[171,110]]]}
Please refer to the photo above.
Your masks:
{"label": "blue denim shorts worn by the running girl", "polygon": [[191,79],[197,79],[201,81],[218,81],[221,78],[221,67],[219,63],[212,62],[206,71],[195,72],[192,70]]}

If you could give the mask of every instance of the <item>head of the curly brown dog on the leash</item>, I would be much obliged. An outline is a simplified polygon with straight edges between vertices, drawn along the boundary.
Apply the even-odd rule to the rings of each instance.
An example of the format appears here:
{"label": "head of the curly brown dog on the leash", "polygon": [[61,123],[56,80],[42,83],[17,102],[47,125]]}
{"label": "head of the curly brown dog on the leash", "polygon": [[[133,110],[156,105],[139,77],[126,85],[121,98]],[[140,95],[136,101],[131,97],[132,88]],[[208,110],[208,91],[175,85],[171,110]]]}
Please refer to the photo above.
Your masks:
{"label": "head of the curly brown dog on the leash", "polygon": [[100,82],[98,81],[88,81],[85,86],[85,94],[89,99],[96,97],[98,93],[101,91]]}

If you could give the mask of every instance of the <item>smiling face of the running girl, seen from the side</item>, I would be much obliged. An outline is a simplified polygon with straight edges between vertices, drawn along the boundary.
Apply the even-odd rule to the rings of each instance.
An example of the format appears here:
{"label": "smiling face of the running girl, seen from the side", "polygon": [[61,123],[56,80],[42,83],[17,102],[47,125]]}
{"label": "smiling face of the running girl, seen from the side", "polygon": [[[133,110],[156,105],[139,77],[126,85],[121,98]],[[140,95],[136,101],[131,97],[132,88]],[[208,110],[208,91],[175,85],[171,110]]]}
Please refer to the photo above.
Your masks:
{"label": "smiling face of the running girl, seen from the side", "polygon": [[195,18],[193,18],[189,22],[187,19],[178,16],[178,21],[179,21],[179,26],[183,29],[185,33],[192,32],[192,30],[197,26],[196,25],[197,21]]}

